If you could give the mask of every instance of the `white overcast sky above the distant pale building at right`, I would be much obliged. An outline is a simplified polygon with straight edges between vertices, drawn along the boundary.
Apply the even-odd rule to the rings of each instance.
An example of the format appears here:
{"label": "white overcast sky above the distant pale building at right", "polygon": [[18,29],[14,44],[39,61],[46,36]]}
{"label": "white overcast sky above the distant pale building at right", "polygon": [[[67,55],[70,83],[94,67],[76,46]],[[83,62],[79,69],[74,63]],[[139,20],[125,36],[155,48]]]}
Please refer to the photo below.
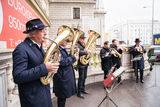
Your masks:
{"label": "white overcast sky above the distant pale building at right", "polygon": [[[152,19],[153,0],[103,0],[106,29],[127,19]],[[154,0],[154,19],[160,20],[160,0]],[[145,8],[144,8],[145,7]]]}

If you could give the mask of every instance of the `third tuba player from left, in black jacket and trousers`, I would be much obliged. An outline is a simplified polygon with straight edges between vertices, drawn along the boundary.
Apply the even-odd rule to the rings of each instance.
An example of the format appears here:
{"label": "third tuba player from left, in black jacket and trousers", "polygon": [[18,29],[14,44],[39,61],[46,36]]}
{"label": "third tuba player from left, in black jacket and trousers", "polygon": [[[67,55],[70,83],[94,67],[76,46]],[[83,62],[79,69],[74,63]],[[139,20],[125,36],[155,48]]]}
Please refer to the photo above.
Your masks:
{"label": "third tuba player from left, in black jacket and trousers", "polygon": [[[88,53],[90,53],[91,51],[84,51],[85,48],[85,44],[84,44],[84,35],[81,35],[78,42],[77,42],[77,46],[79,48],[79,57],[83,56],[83,55],[87,55]],[[88,92],[85,91],[85,80],[87,78],[87,69],[88,69],[88,65],[83,65],[80,62],[80,59],[78,60],[78,73],[79,73],[79,78],[78,78],[78,93],[77,96],[79,98],[84,99],[84,96],[82,94],[88,94]]]}

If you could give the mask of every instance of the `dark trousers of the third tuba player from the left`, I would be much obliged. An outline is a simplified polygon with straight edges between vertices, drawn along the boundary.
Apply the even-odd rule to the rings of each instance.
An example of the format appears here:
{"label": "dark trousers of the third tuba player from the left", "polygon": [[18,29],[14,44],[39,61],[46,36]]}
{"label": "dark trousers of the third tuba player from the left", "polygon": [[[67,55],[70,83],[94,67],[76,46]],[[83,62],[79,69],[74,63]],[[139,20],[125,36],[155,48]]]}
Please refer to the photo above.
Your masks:
{"label": "dark trousers of the third tuba player from the left", "polygon": [[85,91],[85,81],[87,78],[88,66],[83,68],[78,68],[79,78],[78,78],[78,94]]}

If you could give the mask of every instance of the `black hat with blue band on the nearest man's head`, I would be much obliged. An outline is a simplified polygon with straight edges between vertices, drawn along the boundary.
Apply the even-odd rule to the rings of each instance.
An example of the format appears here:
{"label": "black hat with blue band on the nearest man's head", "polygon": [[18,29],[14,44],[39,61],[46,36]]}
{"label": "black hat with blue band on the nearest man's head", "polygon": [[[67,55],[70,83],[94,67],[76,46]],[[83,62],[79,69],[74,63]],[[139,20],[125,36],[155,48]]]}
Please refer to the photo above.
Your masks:
{"label": "black hat with blue band on the nearest man's head", "polygon": [[28,34],[29,32],[35,31],[35,30],[42,30],[45,28],[43,22],[40,19],[32,19],[26,23],[26,31],[23,33]]}

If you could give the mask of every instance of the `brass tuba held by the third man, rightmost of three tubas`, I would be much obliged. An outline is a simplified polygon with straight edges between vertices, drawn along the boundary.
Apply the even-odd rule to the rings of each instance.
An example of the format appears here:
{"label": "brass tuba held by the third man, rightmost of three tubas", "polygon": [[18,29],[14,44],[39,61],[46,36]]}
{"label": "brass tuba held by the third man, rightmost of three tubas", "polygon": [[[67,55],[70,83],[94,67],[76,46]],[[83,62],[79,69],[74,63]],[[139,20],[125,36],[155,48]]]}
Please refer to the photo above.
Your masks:
{"label": "brass tuba held by the third man, rightmost of three tubas", "polygon": [[[95,46],[94,43],[95,43],[96,39],[100,38],[101,36],[99,33],[95,32],[93,30],[89,30],[88,33],[89,33],[89,38],[88,38],[87,44],[84,48],[84,51],[91,50],[91,53],[93,53],[93,51],[94,51],[93,46]],[[91,53],[88,55],[81,56],[80,62],[84,65],[88,64],[90,61],[90,58],[91,58]]]}

